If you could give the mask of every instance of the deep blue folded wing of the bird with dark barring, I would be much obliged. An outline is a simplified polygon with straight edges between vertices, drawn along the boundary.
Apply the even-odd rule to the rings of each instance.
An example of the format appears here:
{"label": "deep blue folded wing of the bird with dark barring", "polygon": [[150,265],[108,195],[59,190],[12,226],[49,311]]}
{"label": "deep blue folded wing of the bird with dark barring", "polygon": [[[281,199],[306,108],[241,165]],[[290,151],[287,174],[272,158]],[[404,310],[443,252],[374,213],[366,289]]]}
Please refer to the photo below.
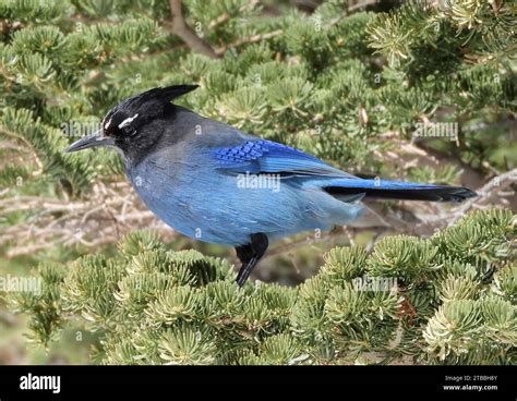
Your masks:
{"label": "deep blue folded wing of the bird with dark barring", "polygon": [[238,146],[215,148],[211,154],[219,169],[235,173],[353,177],[314,156],[265,139],[245,141]]}

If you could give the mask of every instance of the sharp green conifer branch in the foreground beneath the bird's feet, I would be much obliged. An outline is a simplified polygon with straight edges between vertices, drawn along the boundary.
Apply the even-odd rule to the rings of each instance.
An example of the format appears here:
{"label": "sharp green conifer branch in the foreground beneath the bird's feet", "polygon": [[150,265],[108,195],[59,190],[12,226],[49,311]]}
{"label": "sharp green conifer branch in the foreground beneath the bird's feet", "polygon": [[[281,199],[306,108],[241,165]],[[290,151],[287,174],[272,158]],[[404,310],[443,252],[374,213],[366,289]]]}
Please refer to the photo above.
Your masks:
{"label": "sharp green conifer branch in the foreground beneath the bird's feet", "polygon": [[11,301],[44,345],[68,320],[101,332],[103,364],[388,363],[402,355],[507,364],[517,343],[515,222],[509,210],[493,209],[429,240],[386,238],[370,255],[337,247],[298,288],[238,288],[225,260],[166,251],[152,233],[135,232],[110,258],[40,267],[41,293]]}

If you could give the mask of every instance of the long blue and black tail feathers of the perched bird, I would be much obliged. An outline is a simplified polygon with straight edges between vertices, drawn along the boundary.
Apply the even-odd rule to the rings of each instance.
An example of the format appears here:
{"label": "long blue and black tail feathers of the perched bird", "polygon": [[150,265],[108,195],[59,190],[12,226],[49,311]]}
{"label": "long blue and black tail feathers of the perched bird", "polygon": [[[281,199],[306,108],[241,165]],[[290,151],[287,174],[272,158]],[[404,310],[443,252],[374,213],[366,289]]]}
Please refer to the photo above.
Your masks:
{"label": "long blue and black tail feathers of the perched bird", "polygon": [[419,184],[413,182],[339,179],[324,190],[342,198],[364,194],[366,199],[404,199],[428,202],[462,202],[478,194],[464,186]]}

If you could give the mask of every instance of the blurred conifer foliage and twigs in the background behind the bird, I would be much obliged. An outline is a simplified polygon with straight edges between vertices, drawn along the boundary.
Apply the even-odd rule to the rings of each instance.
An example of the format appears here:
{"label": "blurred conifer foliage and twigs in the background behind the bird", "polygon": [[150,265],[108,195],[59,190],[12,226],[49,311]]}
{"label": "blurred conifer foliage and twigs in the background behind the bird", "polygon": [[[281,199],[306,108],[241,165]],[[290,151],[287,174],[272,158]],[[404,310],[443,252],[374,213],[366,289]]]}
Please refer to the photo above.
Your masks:
{"label": "blurred conifer foliage and twigs in the background behind the bird", "polygon": [[[287,240],[257,269],[263,281],[302,282],[332,246],[371,251],[469,208],[515,209],[515,25],[503,0],[0,0],[0,275],[113,256],[141,228],[169,250],[235,260],[156,221],[115,153],[62,153],[121,99],[180,83],[201,85],[179,100],[201,114],[351,173],[482,190],[466,208],[372,205],[393,216],[388,229]],[[420,135],[445,123],[454,135]],[[85,362],[99,341],[69,328],[50,353],[26,352],[24,325],[0,304],[0,362]]]}

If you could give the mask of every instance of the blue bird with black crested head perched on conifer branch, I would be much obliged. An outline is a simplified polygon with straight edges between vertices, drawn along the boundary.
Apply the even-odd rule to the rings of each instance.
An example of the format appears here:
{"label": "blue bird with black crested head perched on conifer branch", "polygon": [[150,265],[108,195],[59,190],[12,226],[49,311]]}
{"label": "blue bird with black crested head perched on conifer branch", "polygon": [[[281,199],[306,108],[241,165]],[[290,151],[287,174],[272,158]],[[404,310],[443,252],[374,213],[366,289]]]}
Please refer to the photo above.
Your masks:
{"label": "blue bird with black crested head perched on conifer branch", "polygon": [[173,104],[197,87],[172,85],[132,96],[65,151],[117,149],[135,192],[159,219],[194,240],[236,248],[239,287],[269,243],[350,223],[364,212],[363,199],[477,196],[462,186],[359,178]]}

